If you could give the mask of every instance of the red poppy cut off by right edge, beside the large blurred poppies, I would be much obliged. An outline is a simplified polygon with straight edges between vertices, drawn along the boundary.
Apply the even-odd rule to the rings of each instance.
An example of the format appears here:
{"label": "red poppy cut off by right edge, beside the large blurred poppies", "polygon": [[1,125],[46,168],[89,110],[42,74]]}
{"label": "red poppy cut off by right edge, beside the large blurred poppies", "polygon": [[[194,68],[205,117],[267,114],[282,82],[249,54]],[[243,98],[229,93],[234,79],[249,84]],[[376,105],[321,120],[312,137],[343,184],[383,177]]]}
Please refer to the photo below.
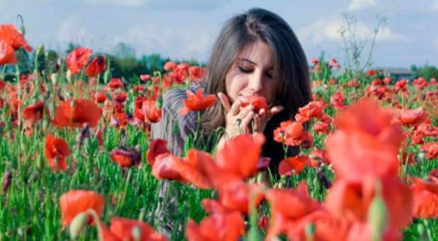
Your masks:
{"label": "red poppy cut off by right edge, beside the large blurred poppies", "polygon": [[438,218],[438,182],[411,177],[414,217]]}

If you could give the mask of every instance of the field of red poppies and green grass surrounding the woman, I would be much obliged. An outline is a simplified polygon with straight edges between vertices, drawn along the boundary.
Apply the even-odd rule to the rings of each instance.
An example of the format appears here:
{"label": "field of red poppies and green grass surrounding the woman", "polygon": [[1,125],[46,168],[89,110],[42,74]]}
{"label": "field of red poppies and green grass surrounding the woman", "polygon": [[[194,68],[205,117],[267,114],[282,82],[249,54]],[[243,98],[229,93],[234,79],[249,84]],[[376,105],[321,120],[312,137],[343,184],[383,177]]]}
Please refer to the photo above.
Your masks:
{"label": "field of red poppies and green grass surrounding the woman", "polygon": [[[16,67],[5,80],[21,48],[44,54],[0,25],[0,240],[438,240],[436,79],[353,79],[314,58],[313,100],[274,131],[299,154],[273,173],[262,133],[212,152],[195,133],[182,156],[152,139],[162,96],[202,82],[205,67],[167,62],[125,79],[78,47],[50,72]],[[179,115],[218,101],[186,95]]]}

